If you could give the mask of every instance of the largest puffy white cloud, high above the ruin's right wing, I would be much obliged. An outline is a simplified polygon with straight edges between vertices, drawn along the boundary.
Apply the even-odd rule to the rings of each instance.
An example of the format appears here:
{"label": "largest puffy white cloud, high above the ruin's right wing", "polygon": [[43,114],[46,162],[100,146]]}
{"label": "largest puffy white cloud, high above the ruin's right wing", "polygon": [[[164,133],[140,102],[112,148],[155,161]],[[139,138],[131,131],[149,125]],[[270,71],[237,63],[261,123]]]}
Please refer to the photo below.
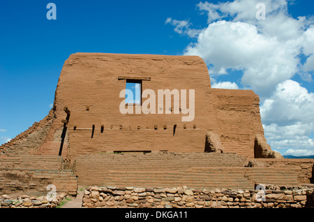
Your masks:
{"label": "largest puffy white cloud, high above the ruin's right wing", "polygon": [[212,22],[200,32],[196,43],[186,47],[184,54],[202,57],[214,76],[225,74],[222,71],[228,69],[243,71],[241,84],[266,97],[278,83],[299,71],[297,55],[303,47],[303,36],[291,34],[292,38],[282,39],[262,31],[246,22]]}

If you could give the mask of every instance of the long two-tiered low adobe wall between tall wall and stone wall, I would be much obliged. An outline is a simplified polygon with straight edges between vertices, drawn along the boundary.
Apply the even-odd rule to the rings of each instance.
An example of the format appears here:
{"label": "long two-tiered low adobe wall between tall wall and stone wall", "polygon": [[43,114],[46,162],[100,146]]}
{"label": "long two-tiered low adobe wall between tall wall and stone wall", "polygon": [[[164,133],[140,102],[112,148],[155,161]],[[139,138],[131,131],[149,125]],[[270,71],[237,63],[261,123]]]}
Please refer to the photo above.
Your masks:
{"label": "long two-tiered low adobe wall between tall wall and stone wall", "polygon": [[237,154],[90,154],[78,156],[75,174],[82,186],[188,186],[253,188],[256,183],[297,186],[290,168],[246,168]]}

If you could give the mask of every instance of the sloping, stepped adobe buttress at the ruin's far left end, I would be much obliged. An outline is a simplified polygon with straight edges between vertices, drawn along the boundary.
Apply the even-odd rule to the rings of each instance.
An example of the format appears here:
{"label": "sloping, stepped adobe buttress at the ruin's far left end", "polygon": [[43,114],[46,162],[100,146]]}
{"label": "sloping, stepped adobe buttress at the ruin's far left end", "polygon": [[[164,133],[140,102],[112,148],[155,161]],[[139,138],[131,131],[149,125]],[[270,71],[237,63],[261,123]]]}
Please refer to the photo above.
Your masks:
{"label": "sloping, stepped adobe buttress at the ruin's far left end", "polygon": [[17,135],[10,140],[10,142],[1,145],[1,153],[13,155],[36,154],[36,150],[45,142],[47,132],[50,130],[53,119],[53,110],[50,110],[49,114],[44,119],[35,122],[33,126]]}

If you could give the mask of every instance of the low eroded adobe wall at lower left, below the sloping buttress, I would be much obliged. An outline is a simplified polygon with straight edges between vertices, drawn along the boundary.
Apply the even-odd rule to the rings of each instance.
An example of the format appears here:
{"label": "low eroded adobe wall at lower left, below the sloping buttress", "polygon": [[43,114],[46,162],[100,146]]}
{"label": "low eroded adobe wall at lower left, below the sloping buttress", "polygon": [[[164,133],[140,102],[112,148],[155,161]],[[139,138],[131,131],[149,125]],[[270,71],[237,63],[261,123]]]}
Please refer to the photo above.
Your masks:
{"label": "low eroded adobe wall at lower left, below the sloping buttress", "polygon": [[0,155],[0,194],[47,194],[53,184],[58,192],[77,193],[72,165],[61,156]]}

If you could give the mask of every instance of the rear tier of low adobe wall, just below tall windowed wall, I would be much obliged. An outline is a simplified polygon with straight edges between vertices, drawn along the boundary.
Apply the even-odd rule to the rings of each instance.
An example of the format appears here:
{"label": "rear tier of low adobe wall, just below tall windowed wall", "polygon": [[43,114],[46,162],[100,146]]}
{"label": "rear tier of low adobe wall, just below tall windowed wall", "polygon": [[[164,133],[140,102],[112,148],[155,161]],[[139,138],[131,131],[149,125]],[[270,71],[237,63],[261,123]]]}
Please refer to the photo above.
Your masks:
{"label": "rear tier of low adobe wall, just below tall windowed wall", "polygon": [[[141,173],[156,175],[163,172],[188,170],[193,167],[244,167],[248,161],[243,156],[235,154],[216,153],[125,153],[125,154],[85,154],[77,156],[75,160],[75,174],[80,185],[101,186],[111,180],[114,170],[118,178],[128,178],[130,181],[140,182],[136,175]],[[110,170],[113,170],[110,172]],[[126,177],[125,172],[134,173],[135,177]],[[154,172],[154,173],[153,173]],[[181,172],[184,174],[184,172]],[[120,176],[121,175],[121,176]],[[125,175],[125,176],[122,176]],[[144,177],[144,176],[143,176]],[[165,179],[166,180],[166,179]],[[167,182],[162,180],[162,182]],[[173,179],[170,179],[171,181]],[[126,182],[126,180],[124,180]],[[154,182],[156,179],[154,179]],[[158,184],[161,183],[159,180]]]}

